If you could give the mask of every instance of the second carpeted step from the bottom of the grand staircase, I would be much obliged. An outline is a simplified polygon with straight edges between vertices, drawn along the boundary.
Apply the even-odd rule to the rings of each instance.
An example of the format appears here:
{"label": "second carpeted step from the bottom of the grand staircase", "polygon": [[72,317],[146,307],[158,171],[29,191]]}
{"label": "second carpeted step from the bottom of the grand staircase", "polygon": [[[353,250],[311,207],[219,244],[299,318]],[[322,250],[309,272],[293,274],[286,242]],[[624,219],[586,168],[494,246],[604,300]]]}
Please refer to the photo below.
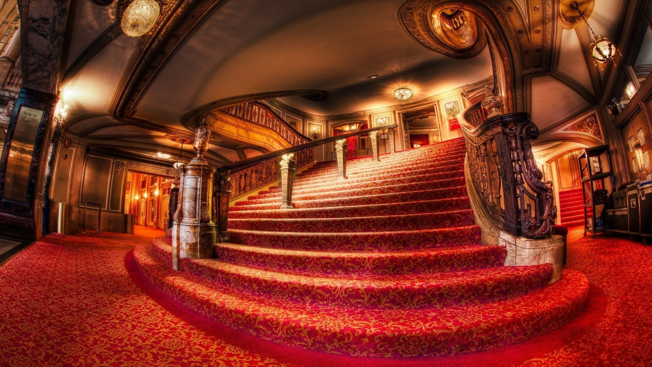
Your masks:
{"label": "second carpeted step from the bottom of the grand staircase", "polygon": [[[171,252],[171,246],[164,251]],[[497,266],[432,274],[320,277],[252,268],[221,259],[183,259],[181,270],[258,296],[344,308],[428,308],[498,302],[548,285],[552,266]]]}

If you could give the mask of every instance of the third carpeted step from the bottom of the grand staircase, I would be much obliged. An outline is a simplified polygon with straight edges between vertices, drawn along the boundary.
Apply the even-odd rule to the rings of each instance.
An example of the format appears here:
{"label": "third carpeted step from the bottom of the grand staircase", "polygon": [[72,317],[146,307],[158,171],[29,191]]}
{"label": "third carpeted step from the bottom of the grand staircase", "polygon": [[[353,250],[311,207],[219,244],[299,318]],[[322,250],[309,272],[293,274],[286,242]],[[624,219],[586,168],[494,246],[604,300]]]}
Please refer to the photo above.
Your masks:
{"label": "third carpeted step from the bottom of the grand staircase", "polygon": [[469,245],[408,251],[301,251],[215,244],[215,257],[277,272],[336,276],[431,274],[501,266],[503,246]]}

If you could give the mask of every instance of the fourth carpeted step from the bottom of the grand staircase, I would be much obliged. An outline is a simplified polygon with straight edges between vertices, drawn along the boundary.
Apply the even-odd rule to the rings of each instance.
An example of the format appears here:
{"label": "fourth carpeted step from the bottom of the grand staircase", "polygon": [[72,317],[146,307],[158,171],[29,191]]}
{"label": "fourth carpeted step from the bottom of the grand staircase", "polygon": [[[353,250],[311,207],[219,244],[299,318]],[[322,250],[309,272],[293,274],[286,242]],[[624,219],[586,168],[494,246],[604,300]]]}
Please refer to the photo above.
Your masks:
{"label": "fourth carpeted step from the bottom of the grand staircase", "polygon": [[[378,229],[377,229],[378,231]],[[248,246],[315,251],[400,251],[480,243],[480,227],[469,225],[421,231],[267,232],[230,229],[231,242]]]}

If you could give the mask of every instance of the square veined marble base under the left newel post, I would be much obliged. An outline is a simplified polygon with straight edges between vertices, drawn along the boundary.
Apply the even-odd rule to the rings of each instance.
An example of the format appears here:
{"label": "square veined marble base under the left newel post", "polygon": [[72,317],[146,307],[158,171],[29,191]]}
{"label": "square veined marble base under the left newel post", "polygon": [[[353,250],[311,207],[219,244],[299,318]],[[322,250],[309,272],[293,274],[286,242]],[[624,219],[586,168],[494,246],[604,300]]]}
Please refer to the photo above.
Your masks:
{"label": "square veined marble base under the left newel post", "polygon": [[179,270],[179,259],[209,259],[217,240],[215,225],[172,225],[172,268]]}

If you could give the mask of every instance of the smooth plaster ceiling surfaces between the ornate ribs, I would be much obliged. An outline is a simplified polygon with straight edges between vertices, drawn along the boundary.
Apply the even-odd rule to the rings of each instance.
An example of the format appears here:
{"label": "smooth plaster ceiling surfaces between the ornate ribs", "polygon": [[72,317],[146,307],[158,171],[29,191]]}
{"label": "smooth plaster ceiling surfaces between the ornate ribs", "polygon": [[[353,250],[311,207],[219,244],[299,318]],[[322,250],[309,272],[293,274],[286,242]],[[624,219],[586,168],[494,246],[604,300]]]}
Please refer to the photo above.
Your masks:
{"label": "smooth plaster ceiling surfaces between the ornate ribs", "polygon": [[[413,90],[412,101],[492,74],[488,49],[472,59],[451,59],[411,39],[396,18],[402,2],[226,0],[170,56],[138,101],[134,116],[185,129],[179,118],[205,103],[283,89],[326,89],[331,95],[325,101],[301,97],[285,97],[282,101],[312,114],[343,114],[396,104],[391,91],[400,86]],[[499,2],[504,7],[516,4],[522,17],[527,18],[521,10],[531,6],[530,0]],[[114,27],[116,20],[116,2],[108,7],[92,0],[77,3],[68,37],[68,66]],[[621,5],[622,0],[595,1],[589,22],[596,33],[614,37]],[[525,19],[524,24],[529,20]],[[123,134],[130,141],[161,149],[175,146],[163,139],[148,140],[144,135],[157,134],[147,129],[136,128],[143,131],[137,133],[128,125],[105,126],[113,119],[98,117],[107,113],[116,86],[128,71],[130,57],[139,50],[138,42],[141,39],[125,35],[111,40],[67,80],[69,119],[75,122],[68,126],[68,133],[85,132],[87,140],[108,133]],[[559,32],[558,44],[559,71],[568,80],[560,82],[552,75],[534,78],[527,96],[539,127],[554,125],[586,108],[589,102],[585,92],[597,93],[591,80],[599,78],[598,72],[587,64],[583,49],[587,45],[578,39],[578,32]],[[380,76],[367,79],[373,74]],[[260,153],[216,146],[211,149],[216,153],[213,159],[228,161]]]}

